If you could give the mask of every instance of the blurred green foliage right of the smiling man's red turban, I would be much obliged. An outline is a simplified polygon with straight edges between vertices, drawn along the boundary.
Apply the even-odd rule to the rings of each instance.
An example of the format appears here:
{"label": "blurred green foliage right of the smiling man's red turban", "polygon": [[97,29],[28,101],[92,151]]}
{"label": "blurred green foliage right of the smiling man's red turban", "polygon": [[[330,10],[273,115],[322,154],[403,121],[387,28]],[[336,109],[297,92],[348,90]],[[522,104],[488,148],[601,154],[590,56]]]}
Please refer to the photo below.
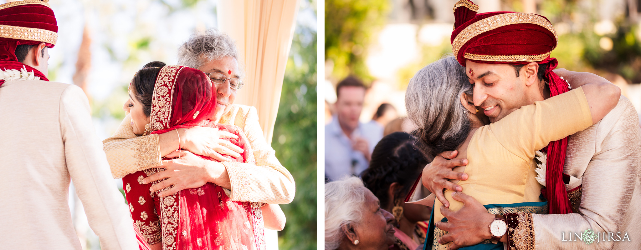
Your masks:
{"label": "blurred green foliage right of the smiling man's red turban", "polygon": [[[516,2],[516,1],[513,1]],[[539,5],[540,14],[555,26],[571,27],[569,33],[559,36],[559,43],[552,52],[559,61],[559,68],[589,71],[603,75],[621,75],[629,82],[641,82],[641,33],[638,22],[627,15],[614,17],[612,33],[597,34],[599,3],[580,4],[579,1],[545,0]],[[515,8],[515,11],[519,11]],[[628,10],[624,10],[628,12]],[[603,46],[611,43],[612,47]]]}

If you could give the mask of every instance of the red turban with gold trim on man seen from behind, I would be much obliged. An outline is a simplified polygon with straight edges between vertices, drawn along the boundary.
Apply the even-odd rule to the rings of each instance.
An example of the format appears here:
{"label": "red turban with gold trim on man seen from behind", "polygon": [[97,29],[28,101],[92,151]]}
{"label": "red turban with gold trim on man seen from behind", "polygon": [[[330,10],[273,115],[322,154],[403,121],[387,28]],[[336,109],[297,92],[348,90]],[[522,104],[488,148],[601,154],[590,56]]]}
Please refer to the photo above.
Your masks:
{"label": "red turban with gold trim on man seen from behind", "polygon": [[[33,71],[41,80],[47,77],[35,68],[18,62],[18,45],[38,45],[52,48],[58,41],[56,17],[48,0],[22,0],[0,4],[0,70]],[[0,80],[0,84],[4,81]]]}

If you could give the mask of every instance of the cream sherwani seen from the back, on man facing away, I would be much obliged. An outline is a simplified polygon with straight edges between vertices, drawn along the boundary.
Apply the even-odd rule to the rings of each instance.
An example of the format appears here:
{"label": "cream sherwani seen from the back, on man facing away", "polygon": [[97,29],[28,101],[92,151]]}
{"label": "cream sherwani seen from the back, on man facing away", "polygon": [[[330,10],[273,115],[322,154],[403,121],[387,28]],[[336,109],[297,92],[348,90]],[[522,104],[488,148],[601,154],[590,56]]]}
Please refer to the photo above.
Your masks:
{"label": "cream sherwani seen from the back, on man facing away", "polygon": [[68,204],[70,178],[102,249],[138,249],[80,88],[4,82],[0,138],[0,249],[81,249]]}

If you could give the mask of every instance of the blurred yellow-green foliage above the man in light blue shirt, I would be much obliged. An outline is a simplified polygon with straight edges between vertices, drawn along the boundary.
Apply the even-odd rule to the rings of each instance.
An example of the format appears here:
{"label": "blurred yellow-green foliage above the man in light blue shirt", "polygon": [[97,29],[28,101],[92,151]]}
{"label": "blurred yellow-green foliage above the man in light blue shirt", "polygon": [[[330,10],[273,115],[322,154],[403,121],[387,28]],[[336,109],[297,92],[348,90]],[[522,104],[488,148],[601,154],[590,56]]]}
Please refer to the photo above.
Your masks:
{"label": "blurred yellow-green foliage above the man in light blue shirt", "polygon": [[367,47],[387,21],[387,0],[325,1],[325,59],[334,63],[332,77],[372,76],[365,65]]}

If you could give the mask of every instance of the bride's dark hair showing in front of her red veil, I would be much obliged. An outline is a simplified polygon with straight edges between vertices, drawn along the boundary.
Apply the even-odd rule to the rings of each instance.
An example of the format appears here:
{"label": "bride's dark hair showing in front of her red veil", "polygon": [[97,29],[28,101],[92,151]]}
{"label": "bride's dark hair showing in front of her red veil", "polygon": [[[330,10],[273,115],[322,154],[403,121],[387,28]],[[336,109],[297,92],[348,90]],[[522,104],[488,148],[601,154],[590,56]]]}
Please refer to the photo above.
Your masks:
{"label": "bride's dark hair showing in front of her red veil", "polygon": [[162,61],[152,61],[142,66],[136,75],[131,79],[131,90],[138,102],[142,104],[142,111],[146,116],[151,114],[151,97],[154,93],[156,77],[160,69],[167,64]]}

